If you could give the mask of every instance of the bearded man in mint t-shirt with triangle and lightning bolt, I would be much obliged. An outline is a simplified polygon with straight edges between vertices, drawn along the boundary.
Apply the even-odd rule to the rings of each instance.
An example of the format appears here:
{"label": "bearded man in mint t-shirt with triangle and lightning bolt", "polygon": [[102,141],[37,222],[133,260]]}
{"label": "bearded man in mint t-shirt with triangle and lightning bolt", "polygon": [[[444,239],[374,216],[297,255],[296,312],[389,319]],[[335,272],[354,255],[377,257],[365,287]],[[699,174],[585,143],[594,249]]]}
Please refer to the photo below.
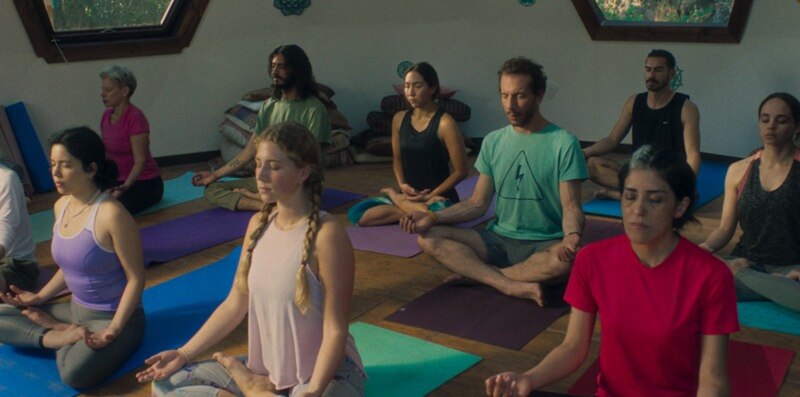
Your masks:
{"label": "bearded man in mint t-shirt with triangle and lightning bolt", "polygon": [[[472,197],[435,214],[408,214],[401,227],[419,233],[420,247],[458,276],[543,305],[543,285],[566,281],[580,246],[588,171],[578,140],[539,112],[541,65],[513,58],[498,75],[510,125],[484,139]],[[494,195],[497,216],[485,230],[434,226],[483,215]]]}

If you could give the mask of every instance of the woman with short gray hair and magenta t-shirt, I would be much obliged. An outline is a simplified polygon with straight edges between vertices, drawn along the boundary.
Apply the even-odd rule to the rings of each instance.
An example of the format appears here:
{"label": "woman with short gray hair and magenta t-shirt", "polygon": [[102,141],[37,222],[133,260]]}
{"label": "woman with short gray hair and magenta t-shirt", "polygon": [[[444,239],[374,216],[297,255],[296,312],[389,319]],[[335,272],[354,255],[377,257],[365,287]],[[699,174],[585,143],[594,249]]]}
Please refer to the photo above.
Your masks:
{"label": "woman with short gray hair and magenta t-shirt", "polygon": [[150,154],[150,124],[131,104],[136,77],[128,68],[111,66],[100,78],[106,107],[100,131],[108,158],[119,167],[119,180],[110,193],[131,214],[138,214],[161,201],[164,194],[164,181]]}

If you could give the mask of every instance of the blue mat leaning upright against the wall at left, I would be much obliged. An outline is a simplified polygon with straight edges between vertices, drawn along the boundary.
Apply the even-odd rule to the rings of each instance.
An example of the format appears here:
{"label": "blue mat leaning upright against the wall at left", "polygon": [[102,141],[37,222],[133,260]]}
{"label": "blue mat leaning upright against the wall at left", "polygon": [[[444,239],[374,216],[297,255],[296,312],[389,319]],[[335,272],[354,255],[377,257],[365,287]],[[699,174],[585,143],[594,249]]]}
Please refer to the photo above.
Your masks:
{"label": "blue mat leaning upright against the wall at left", "polygon": [[11,123],[11,129],[14,130],[14,137],[28,168],[33,188],[37,192],[49,192],[55,189],[56,185],[50,176],[50,160],[44,154],[44,148],[39,142],[39,136],[36,135],[36,129],[33,128],[25,104],[17,102],[6,106],[6,115]]}

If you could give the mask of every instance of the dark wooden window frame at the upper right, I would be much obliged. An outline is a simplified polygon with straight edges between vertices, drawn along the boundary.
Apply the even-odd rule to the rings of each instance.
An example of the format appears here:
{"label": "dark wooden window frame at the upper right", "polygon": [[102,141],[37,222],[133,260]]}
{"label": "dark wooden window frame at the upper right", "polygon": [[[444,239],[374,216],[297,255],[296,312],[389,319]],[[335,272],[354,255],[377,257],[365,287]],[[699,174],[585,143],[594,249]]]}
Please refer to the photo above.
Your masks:
{"label": "dark wooden window frame at the upper right", "polygon": [[739,43],[747,24],[752,0],[733,2],[731,16],[725,27],[698,24],[654,26],[636,22],[606,21],[594,0],[572,0],[592,40],[610,41],[675,41],[691,43]]}

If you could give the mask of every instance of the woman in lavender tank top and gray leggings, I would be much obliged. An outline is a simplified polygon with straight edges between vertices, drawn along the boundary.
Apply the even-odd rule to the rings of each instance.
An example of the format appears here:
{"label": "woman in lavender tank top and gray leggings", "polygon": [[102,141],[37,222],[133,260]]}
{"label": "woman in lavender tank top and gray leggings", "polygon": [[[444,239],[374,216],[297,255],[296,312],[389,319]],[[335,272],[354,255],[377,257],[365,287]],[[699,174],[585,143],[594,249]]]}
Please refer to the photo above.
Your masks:
{"label": "woman in lavender tank top and gray leggings", "polygon": [[[50,141],[56,189],[51,252],[59,269],[38,292],[0,295],[0,343],[56,350],[61,380],[94,386],[138,348],[145,329],[139,228],[105,192],[117,177],[100,137],[86,127]],[[64,288],[72,301],[47,302]]]}

